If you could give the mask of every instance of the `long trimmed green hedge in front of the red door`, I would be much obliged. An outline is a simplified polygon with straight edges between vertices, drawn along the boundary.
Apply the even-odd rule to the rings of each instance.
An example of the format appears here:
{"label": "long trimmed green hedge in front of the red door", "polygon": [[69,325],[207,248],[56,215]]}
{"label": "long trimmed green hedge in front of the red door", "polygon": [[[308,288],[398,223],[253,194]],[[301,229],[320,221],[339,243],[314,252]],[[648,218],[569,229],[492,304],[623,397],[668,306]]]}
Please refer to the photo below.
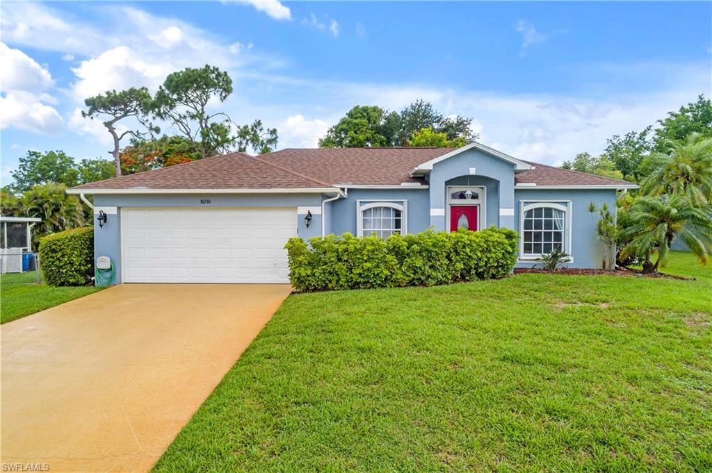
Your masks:
{"label": "long trimmed green hedge in front of the red door", "polygon": [[417,235],[290,238],[289,278],[295,289],[321,291],[433,286],[509,275],[518,236],[508,228]]}

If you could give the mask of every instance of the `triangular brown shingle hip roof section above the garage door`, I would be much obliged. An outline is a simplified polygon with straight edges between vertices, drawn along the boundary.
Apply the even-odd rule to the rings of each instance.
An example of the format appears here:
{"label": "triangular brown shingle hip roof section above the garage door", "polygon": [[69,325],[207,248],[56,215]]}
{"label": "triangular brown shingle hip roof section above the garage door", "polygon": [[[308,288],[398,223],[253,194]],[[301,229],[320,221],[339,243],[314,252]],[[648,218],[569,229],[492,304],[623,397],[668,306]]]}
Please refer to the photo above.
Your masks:
{"label": "triangular brown shingle hip roof section above the garage door", "polygon": [[76,189],[272,189],[323,188],[330,184],[244,153],[199,159],[185,164],[147,171]]}

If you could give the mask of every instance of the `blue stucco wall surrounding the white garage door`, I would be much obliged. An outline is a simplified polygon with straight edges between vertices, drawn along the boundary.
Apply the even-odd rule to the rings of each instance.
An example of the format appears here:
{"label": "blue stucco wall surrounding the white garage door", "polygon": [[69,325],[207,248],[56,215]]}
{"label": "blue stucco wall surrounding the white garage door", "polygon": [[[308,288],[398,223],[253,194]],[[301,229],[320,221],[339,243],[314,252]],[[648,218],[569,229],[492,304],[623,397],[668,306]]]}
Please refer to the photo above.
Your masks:
{"label": "blue stucco wall surrounding the white garage door", "polygon": [[[126,207],[187,207],[187,208],[225,208],[225,207],[308,207],[312,211],[309,228],[305,225],[305,212],[297,215],[297,233],[301,238],[321,235],[320,194],[97,194],[94,196],[94,256],[108,256],[114,264],[115,283],[121,282],[121,208]],[[209,200],[210,203],[201,203]],[[99,210],[108,212],[108,221],[99,228],[96,217]],[[317,211],[318,209],[318,211]],[[115,212],[115,213],[111,213]]]}

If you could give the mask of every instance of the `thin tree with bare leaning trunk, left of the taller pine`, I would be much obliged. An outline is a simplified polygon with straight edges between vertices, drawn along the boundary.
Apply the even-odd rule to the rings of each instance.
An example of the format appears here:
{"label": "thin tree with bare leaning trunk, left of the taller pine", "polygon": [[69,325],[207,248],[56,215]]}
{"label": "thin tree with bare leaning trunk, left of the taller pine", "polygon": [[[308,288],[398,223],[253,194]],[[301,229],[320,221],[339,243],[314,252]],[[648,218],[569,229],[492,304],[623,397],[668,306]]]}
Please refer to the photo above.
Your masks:
{"label": "thin tree with bare leaning trunk, left of the taller pine", "polygon": [[[121,176],[120,143],[121,140],[130,135],[134,139],[144,139],[147,136],[158,132],[157,127],[150,123],[151,95],[146,87],[131,87],[128,90],[117,92],[108,90],[105,94],[89,97],[84,101],[88,110],[82,111],[83,117],[94,119],[102,115],[108,115],[109,119],[103,122],[108,132],[114,140],[114,148],[110,154],[114,158],[116,176]],[[140,128],[126,129],[120,132],[117,123],[126,123],[126,119],[134,119]]]}

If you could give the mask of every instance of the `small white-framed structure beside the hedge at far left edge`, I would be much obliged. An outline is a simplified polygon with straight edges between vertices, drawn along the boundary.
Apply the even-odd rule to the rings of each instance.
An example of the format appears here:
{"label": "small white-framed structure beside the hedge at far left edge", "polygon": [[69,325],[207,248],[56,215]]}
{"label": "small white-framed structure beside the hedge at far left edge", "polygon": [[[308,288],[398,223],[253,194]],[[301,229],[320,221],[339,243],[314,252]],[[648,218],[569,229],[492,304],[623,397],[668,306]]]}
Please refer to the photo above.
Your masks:
{"label": "small white-framed structure beside the hedge at far left edge", "polygon": [[32,227],[41,221],[35,217],[0,217],[1,274],[27,270],[23,254],[32,250]]}

